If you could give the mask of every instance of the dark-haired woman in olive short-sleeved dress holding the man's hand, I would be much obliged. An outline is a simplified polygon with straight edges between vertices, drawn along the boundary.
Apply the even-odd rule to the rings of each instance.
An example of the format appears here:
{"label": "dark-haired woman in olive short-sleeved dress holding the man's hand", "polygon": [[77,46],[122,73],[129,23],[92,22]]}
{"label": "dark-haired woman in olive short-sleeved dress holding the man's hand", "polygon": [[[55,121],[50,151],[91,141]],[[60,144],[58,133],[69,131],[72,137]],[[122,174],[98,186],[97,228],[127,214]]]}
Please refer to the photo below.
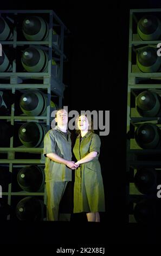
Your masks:
{"label": "dark-haired woman in olive short-sleeved dress holding the man's hand", "polygon": [[105,211],[104,185],[98,160],[100,138],[93,131],[91,118],[80,115],[79,136],[73,148],[78,166],[75,169],[74,212],[87,212],[87,220],[99,222],[99,211]]}

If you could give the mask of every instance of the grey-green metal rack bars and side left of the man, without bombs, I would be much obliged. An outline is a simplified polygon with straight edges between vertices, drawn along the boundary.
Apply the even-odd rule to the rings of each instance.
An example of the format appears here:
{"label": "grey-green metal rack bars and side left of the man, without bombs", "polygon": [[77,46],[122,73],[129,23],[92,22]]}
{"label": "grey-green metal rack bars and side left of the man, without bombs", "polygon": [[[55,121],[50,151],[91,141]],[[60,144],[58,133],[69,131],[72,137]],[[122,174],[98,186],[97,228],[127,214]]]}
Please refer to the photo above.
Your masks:
{"label": "grey-green metal rack bars and side left of the man, without bombs", "polygon": [[[28,41],[18,40],[18,27],[17,20],[22,21],[25,16],[35,15],[40,16],[47,20],[49,27],[49,35],[46,41]],[[0,41],[3,46],[12,47],[13,51],[16,51],[18,47],[22,46],[39,46],[48,52],[48,72],[19,72],[17,69],[16,59],[12,60],[12,71],[11,72],[0,72],[0,90],[10,90],[12,94],[15,95],[17,90],[30,90],[38,89],[43,90],[47,94],[47,115],[46,116],[36,116],[30,117],[24,114],[16,116],[15,115],[15,102],[11,105],[11,113],[8,116],[1,116],[0,119],[10,122],[10,125],[14,126],[17,121],[34,121],[46,125],[47,130],[50,128],[50,100],[51,97],[57,100],[57,106],[62,107],[63,91],[65,90],[65,84],[63,84],[63,61],[66,56],[63,52],[64,35],[67,32],[66,26],[59,19],[59,17],[54,13],[53,10],[1,10],[0,16],[3,18],[8,17],[13,25],[13,39],[8,41]],[[59,34],[53,33],[53,31],[59,30]],[[59,65],[52,65],[53,53],[56,52]],[[26,81],[31,78],[32,83],[26,83]],[[37,81],[38,80],[38,81]],[[5,81],[5,83],[4,83]],[[6,83],[7,82],[7,83]],[[16,153],[32,153],[38,154],[39,159],[17,159],[15,157]],[[2,155],[2,156],[1,156]],[[0,168],[5,166],[9,168],[10,174],[14,172],[16,167],[24,167],[31,164],[44,167],[44,156],[43,148],[26,148],[24,145],[20,147],[14,147],[14,136],[10,138],[10,147],[3,148],[0,145]],[[5,159],[3,159],[5,156]],[[3,188],[2,188],[3,189]],[[12,204],[13,196],[41,196],[43,198],[44,204],[46,204],[46,192],[12,192],[12,182],[9,183],[8,191],[3,191],[2,197],[7,197],[7,202],[9,205]],[[10,220],[10,214],[7,219]],[[46,220],[46,216],[43,218]]]}

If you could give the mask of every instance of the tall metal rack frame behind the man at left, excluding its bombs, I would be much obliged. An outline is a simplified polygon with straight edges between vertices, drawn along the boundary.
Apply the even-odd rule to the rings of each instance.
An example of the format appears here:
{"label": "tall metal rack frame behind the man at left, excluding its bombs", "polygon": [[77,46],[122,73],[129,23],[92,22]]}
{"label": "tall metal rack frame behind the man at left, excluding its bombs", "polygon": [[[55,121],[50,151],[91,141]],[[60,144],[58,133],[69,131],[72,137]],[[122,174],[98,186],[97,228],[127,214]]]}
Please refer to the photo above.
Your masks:
{"label": "tall metal rack frame behind the man at left, excluding its bombs", "polygon": [[[5,181],[7,181],[5,180],[2,186],[3,203],[9,205],[6,218],[7,220],[17,218],[15,208],[21,199],[35,197],[40,199],[42,204],[44,214],[41,216],[41,219],[46,220],[45,206],[47,198],[45,187],[43,186],[41,191],[28,192],[22,190],[20,187],[17,189],[17,185],[15,186],[17,182],[16,175],[21,168],[34,165],[44,169],[45,158],[43,156],[43,144],[37,148],[25,147],[19,142],[17,144],[17,127],[24,123],[36,122],[43,125],[46,131],[51,129],[51,110],[56,107],[62,107],[63,91],[65,90],[65,84],[62,81],[63,62],[66,59],[63,53],[63,43],[67,28],[53,10],[1,10],[0,15],[4,20],[9,21],[12,33],[12,36],[10,33],[10,38],[0,41],[3,52],[9,50],[9,53],[12,55],[10,58],[11,55],[8,54],[11,68],[7,71],[0,72],[0,91],[1,93],[8,92],[8,95],[11,95],[11,99],[14,99],[10,102],[8,114],[0,116],[1,121],[9,124],[12,127],[11,131],[13,131],[11,135],[8,135],[8,147],[1,147],[0,145],[0,174],[1,177],[8,178],[8,184],[5,184]],[[29,41],[23,36],[22,22],[24,18],[34,16],[41,17],[41,19],[47,22],[49,29],[48,36],[45,40]],[[20,61],[21,52],[24,51],[25,47],[37,46],[47,52],[47,70],[40,72],[24,70]],[[19,102],[20,100],[18,95],[33,89],[42,92],[47,97],[47,111],[43,116],[29,116],[18,112],[16,109],[18,106],[17,101]],[[53,107],[51,107],[51,102],[55,103]],[[21,208],[20,211],[23,211],[23,209]]]}

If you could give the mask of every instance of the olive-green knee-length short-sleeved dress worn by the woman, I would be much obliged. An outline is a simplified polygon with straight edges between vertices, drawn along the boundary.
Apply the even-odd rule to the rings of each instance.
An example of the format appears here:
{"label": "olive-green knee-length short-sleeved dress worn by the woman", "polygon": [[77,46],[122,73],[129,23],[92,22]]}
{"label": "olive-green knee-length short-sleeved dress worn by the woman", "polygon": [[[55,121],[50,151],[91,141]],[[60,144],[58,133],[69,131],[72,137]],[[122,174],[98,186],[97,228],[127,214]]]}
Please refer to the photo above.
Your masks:
{"label": "olive-green knee-length short-sleeved dress worn by the woman", "polygon": [[100,138],[95,133],[88,131],[81,138],[79,135],[73,148],[77,160],[82,159],[92,151],[98,152],[94,159],[82,163],[75,169],[74,182],[74,212],[105,211],[104,185],[101,175]]}

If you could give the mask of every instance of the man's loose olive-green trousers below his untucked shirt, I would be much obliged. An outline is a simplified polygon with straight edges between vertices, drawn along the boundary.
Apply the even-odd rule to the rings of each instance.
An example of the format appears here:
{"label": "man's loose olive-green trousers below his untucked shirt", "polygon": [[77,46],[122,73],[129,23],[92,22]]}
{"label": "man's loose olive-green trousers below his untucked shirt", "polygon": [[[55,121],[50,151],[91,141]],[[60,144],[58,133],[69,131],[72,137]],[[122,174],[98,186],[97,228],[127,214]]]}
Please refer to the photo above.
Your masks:
{"label": "man's loose olive-green trousers below his untucked shirt", "polygon": [[[47,220],[48,221],[58,221],[59,220],[59,204],[60,204],[61,198],[63,196],[63,193],[65,192],[67,182],[68,181],[46,182]],[[65,220],[65,218],[63,218],[63,220]],[[70,218],[67,217],[66,221],[69,221],[69,220],[70,220]]]}

